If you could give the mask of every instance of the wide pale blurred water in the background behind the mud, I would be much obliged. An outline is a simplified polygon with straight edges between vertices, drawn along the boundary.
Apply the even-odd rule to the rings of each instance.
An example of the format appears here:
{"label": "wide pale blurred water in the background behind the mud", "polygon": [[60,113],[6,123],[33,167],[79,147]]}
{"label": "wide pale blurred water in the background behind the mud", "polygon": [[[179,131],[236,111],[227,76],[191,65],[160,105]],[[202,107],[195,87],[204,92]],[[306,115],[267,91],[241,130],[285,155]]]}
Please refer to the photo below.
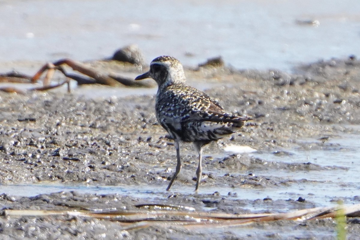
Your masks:
{"label": "wide pale blurred water in the background behind the mud", "polygon": [[3,0],[0,62],[100,59],[138,44],[148,62],[168,54],[197,65],[221,55],[235,68],[288,71],[360,55],[359,26],[358,0]]}

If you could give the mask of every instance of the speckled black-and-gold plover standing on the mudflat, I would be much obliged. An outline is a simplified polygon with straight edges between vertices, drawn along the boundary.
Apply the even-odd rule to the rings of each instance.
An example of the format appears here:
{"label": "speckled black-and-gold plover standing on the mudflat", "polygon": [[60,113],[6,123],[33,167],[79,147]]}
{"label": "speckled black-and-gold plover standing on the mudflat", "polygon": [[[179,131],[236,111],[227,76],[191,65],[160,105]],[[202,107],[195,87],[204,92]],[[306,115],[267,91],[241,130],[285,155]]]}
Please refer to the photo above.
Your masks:
{"label": "speckled black-and-gold plover standing on the mudflat", "polygon": [[172,56],[155,58],[150,63],[150,70],[135,80],[145,78],[152,78],[158,85],[156,118],[175,141],[177,164],[166,190],[170,190],[182,167],[180,143],[192,142],[199,157],[195,185],[197,192],[202,175],[203,146],[234,133],[244,125],[244,121],[252,118],[226,113],[214,98],[186,85],[183,65]]}

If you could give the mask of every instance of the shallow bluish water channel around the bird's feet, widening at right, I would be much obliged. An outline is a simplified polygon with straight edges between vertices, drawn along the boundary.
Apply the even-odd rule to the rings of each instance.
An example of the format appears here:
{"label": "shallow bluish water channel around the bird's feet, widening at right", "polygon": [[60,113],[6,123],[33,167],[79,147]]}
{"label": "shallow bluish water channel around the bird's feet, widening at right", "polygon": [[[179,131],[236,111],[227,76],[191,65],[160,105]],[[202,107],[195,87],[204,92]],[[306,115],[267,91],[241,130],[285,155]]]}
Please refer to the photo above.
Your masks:
{"label": "shallow bluish water channel around the bird's feet, widening at right", "polygon": [[[360,154],[360,142],[357,141],[358,134],[346,134],[341,138],[330,139],[333,144],[337,144],[338,150],[310,150],[303,151],[297,149],[287,149],[293,155],[287,157],[278,157],[273,153],[249,153],[254,157],[264,159],[268,162],[288,162],[288,163],[314,163],[322,167],[336,166],[338,169],[325,169],[321,171],[287,171],[278,169],[276,173],[273,170],[264,170],[253,172],[257,176],[274,176],[293,180],[289,186],[266,187],[264,189],[231,188],[222,186],[212,186],[199,188],[199,194],[212,194],[215,191],[226,198],[236,199],[264,199],[270,197],[273,200],[296,200],[299,197],[315,203],[317,206],[336,205],[338,199],[342,199],[345,204],[358,202],[360,194],[360,179],[357,174],[360,171],[360,162],[356,161]],[[224,152],[224,154],[229,154]],[[224,172],[221,169],[212,171],[212,174],[222,176]],[[239,174],[237,172],[232,173]],[[300,181],[306,179],[307,181]],[[93,186],[93,185],[61,185],[61,184],[30,184],[30,185],[0,185],[0,193],[6,193],[15,196],[36,196],[38,194],[49,194],[59,191],[77,191],[79,193],[90,194],[121,194],[129,195],[135,198],[147,199],[148,202],[153,199],[166,199],[169,192],[165,191],[166,184],[161,186],[134,185],[134,186]],[[31,188],[31,191],[29,191]],[[149,190],[151,189],[151,190]],[[176,193],[193,193],[193,186],[177,185]],[[228,193],[236,196],[229,196]],[[354,198],[355,197],[355,198]],[[286,206],[284,206],[286,207]],[[261,210],[263,206],[248,205],[246,208],[251,210]],[[286,210],[286,209],[278,209]]]}

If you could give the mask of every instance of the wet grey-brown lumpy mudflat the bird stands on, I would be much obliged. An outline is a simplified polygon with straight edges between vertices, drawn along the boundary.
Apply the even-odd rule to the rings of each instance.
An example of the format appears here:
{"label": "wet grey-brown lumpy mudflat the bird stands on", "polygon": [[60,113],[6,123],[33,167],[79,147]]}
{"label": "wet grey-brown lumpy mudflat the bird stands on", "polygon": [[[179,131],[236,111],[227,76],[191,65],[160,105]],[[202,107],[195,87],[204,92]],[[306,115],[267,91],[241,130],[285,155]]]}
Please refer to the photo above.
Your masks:
{"label": "wet grey-brown lumpy mudflat the bird stands on", "polygon": [[[27,63],[22,63],[27,64]],[[141,73],[129,65],[88,63],[103,72]],[[32,66],[31,63],[28,63]],[[332,59],[301,65],[296,74],[276,70],[236,70],[226,67],[186,69],[188,83],[213,86],[206,92],[219,99],[225,109],[254,117],[241,131],[204,149],[203,180],[200,188],[287,187],[294,182],[276,176],[277,169],[321,171],[309,163],[276,162],[247,154],[211,157],[225,144],[247,145],[259,151],[297,148],[337,150],[319,141],[321,137],[355,131],[360,124],[360,61]],[[17,69],[16,65],[13,66]],[[29,67],[31,68],[31,67]],[[34,68],[34,71],[36,69]],[[98,86],[99,88],[105,88]],[[94,86],[96,88],[96,86]],[[82,87],[75,91],[81,92]],[[141,91],[141,89],[139,90]],[[154,96],[126,96],[91,99],[63,90],[8,94],[0,92],[0,182],[2,185],[55,182],[61,184],[152,187],[168,184],[175,168],[173,141],[157,123]],[[312,139],[299,141],[298,139]],[[286,152],[280,152],[287,154]],[[296,199],[248,200],[246,196],[176,194],[181,186],[195,185],[196,155],[192,145],[181,146],[183,169],[163,198],[153,203],[176,204],[221,213],[278,212],[282,209],[318,207]],[[249,173],[267,168],[271,177]],[[334,169],[337,167],[334,166]],[[220,170],[219,170],[220,169]],[[230,172],[238,172],[237,175]],[[225,174],[224,174],[225,173]],[[297,180],[298,181],[298,180]],[[306,179],[302,180],[306,181]],[[326,185],[325,185],[326,187]],[[1,189],[1,186],[0,186]],[[127,194],[81,194],[62,192],[36,197],[0,195],[4,209],[68,209],[64,203],[113,206],[144,203],[146,199]],[[184,230],[150,227],[124,231],[116,221],[55,217],[0,217],[1,239],[334,239],[332,219],[276,221],[237,228]],[[348,219],[348,239],[357,239],[360,225]]]}

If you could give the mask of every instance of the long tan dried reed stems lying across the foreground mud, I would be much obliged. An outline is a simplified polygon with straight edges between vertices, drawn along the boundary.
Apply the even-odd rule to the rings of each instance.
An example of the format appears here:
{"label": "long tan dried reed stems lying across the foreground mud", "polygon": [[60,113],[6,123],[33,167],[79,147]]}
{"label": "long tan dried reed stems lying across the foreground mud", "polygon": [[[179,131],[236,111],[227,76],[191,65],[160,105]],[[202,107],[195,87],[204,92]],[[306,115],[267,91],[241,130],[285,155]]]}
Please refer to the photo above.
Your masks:
{"label": "long tan dried reed stems lying across the foreground mud", "polygon": [[[67,207],[71,207],[65,204]],[[198,227],[231,227],[242,226],[252,222],[266,222],[277,220],[307,221],[320,218],[335,218],[340,216],[360,217],[360,204],[351,206],[340,205],[338,207],[319,207],[301,209],[288,213],[260,213],[260,214],[228,214],[197,212],[183,206],[161,205],[156,208],[154,204],[148,204],[151,208],[144,210],[126,210],[127,208],[94,209],[85,206],[74,206],[76,210],[4,210],[6,217],[15,216],[77,216],[118,221],[123,229],[137,229],[150,226],[181,226],[188,229]],[[146,204],[141,204],[142,207]],[[136,207],[136,206],[133,206]],[[124,210],[125,209],[125,210]]]}

